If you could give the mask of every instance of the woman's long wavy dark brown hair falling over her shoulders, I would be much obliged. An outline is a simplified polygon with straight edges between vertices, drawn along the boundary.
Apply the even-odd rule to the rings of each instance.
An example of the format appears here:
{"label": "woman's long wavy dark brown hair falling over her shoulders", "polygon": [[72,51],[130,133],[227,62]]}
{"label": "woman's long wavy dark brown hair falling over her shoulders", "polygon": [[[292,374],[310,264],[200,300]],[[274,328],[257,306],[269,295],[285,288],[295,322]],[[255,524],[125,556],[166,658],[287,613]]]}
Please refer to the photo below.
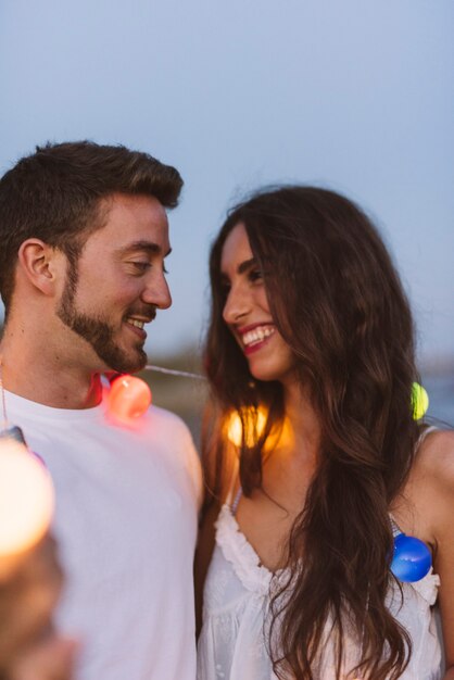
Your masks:
{"label": "woman's long wavy dark brown hair falling over her shoulders", "polygon": [[226,415],[258,404],[268,413],[256,444],[248,445],[243,437],[240,448],[245,495],[261,487],[264,444],[283,418],[281,385],[252,378],[223,320],[220,257],[240,223],[321,429],[319,464],[288,541],[290,576],[272,599],[274,670],[279,678],[289,672],[295,680],[316,678],[329,621],[336,631],[337,678],[345,672],[344,640],[353,630],[361,650],[355,671],[394,680],[411,654],[408,635],[386,606],[393,581],[389,508],[407,479],[418,438],[408,302],[369,219],[332,191],[280,187],[254,194],[229,213],[210,260],[207,505],[225,494],[227,446],[220,423]]}

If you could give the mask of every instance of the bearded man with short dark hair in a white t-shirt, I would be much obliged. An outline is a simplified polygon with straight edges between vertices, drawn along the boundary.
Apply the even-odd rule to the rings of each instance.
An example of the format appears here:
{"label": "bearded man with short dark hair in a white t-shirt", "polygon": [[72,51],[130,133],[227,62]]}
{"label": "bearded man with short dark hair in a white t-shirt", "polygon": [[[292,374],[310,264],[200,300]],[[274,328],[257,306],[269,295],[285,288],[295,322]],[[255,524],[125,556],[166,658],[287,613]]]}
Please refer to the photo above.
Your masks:
{"label": "bearded man with short dark hair in a white t-shirt", "polygon": [[171,305],[166,210],[181,178],[124,147],[48,144],[0,180],[5,407],[56,490],[60,630],[80,680],[193,680],[200,495],[186,426],[106,415],[101,374],[137,372]]}

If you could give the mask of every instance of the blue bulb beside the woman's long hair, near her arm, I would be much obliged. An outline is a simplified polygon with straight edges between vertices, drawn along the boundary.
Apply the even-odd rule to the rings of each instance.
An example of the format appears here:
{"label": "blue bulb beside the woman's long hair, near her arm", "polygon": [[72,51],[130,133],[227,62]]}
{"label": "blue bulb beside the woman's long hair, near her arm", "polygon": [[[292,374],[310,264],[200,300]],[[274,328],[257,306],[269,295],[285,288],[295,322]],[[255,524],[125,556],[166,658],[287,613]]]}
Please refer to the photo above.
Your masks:
{"label": "blue bulb beside the woman's long hair, near her arm", "polygon": [[400,581],[419,581],[429,572],[432,556],[426,543],[414,536],[400,533],[394,538],[391,571]]}

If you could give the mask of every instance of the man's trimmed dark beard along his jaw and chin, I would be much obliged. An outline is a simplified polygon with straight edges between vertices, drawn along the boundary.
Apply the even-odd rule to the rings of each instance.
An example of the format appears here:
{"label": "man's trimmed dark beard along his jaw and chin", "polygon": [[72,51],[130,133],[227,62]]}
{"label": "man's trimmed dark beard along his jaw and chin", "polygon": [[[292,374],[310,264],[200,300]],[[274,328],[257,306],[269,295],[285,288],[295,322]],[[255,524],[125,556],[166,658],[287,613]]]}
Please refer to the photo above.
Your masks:
{"label": "man's trimmed dark beard along his jaw and chin", "polygon": [[[68,261],[68,272],[62,299],[56,315],[65,326],[84,338],[98,354],[100,360],[112,370],[134,373],[147,364],[147,354],[142,344],[137,343],[134,355],[124,352],[114,340],[114,329],[100,317],[89,316],[77,311],[75,297],[77,291],[77,263]],[[154,312],[153,312],[154,313]],[[133,314],[126,314],[124,320]]]}

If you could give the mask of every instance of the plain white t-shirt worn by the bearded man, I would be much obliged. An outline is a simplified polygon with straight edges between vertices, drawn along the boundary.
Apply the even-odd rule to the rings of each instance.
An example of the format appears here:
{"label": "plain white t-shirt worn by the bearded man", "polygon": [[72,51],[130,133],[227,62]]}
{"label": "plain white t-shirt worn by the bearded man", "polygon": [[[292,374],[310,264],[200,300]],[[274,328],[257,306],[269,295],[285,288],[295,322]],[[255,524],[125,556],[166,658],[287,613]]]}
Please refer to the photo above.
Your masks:
{"label": "plain white t-shirt worn by the bearded man", "polygon": [[80,639],[77,680],[194,680],[201,474],[185,424],[154,406],[127,428],[104,404],[51,408],[11,392],[5,403],[54,481],[56,621]]}

